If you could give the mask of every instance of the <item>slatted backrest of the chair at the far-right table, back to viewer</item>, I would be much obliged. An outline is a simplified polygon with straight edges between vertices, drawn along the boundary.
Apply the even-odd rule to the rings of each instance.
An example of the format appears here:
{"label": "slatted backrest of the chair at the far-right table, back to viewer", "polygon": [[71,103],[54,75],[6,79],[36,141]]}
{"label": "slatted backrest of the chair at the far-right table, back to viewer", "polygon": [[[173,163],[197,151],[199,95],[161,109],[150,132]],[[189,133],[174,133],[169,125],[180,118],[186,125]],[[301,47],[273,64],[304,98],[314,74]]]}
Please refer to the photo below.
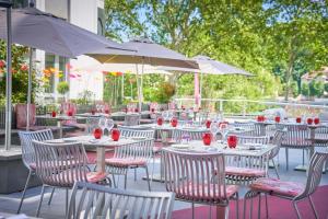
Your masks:
{"label": "slatted backrest of the chair at the far-right table, back to viewer", "polygon": [[[282,141],[283,147],[308,147],[311,146],[309,129],[307,125],[284,124],[286,136]],[[281,128],[279,128],[281,129]]]}

